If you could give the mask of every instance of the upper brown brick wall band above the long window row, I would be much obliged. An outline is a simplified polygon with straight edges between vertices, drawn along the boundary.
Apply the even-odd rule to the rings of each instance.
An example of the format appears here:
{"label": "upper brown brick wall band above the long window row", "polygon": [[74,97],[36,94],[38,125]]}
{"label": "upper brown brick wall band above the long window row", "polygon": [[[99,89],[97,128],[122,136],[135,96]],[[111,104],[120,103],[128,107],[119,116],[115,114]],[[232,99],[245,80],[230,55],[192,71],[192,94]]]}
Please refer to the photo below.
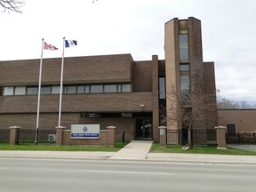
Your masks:
{"label": "upper brown brick wall band above the long window row", "polygon": [[[131,81],[131,54],[72,57],[64,60],[63,81]],[[0,61],[0,85],[38,84],[40,60]],[[61,58],[44,59],[42,84],[60,84]]]}

